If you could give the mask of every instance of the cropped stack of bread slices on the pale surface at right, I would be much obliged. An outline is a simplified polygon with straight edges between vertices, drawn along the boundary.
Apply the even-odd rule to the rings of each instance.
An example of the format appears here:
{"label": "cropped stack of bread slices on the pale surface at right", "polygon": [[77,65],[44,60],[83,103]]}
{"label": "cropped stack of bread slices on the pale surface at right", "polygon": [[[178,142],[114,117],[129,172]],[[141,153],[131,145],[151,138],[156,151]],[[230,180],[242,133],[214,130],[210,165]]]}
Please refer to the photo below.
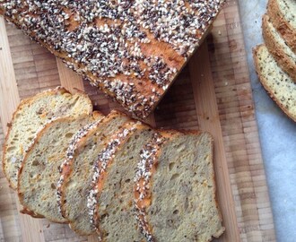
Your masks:
{"label": "cropped stack of bread slices on the pale surface at right", "polygon": [[254,48],[260,82],[296,122],[296,1],[269,0],[262,18],[265,44]]}

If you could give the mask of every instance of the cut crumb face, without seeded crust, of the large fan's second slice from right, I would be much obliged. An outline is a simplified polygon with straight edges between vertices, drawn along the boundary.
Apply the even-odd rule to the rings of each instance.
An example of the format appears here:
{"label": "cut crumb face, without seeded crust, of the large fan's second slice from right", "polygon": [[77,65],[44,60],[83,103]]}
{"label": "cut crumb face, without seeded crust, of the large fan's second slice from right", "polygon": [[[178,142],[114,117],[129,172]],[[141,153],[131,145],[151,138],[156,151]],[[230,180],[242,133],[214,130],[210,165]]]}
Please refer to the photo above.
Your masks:
{"label": "cut crumb face, without seeded crust, of the large fan's second slice from right", "polygon": [[[119,144],[109,160],[97,199],[96,227],[102,241],[143,241],[137,229],[134,211],[134,176],[140,151],[155,132],[145,125],[134,125],[134,131]],[[123,133],[126,133],[124,130]]]}

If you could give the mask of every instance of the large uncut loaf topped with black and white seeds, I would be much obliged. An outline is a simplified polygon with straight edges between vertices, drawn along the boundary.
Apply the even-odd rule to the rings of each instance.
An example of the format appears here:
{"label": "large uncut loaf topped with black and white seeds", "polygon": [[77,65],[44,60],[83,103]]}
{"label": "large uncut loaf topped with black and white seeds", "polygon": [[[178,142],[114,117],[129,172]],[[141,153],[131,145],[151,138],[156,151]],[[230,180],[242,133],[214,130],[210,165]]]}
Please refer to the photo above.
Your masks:
{"label": "large uncut loaf topped with black and white seeds", "polygon": [[144,118],[205,38],[223,2],[1,1],[0,14]]}

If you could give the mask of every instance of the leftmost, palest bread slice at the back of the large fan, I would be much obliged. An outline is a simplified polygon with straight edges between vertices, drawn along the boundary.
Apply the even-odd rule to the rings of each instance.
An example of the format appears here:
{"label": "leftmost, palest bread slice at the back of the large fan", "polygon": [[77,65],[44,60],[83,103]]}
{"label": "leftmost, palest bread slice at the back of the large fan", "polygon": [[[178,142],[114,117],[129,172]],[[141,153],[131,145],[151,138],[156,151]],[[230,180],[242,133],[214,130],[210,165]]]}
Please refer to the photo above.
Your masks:
{"label": "leftmost, palest bread slice at the back of the large fan", "polygon": [[91,111],[91,99],[85,93],[71,94],[61,87],[23,99],[8,125],[4,141],[3,170],[10,186],[16,189],[22,159],[43,125],[57,117],[77,117]]}

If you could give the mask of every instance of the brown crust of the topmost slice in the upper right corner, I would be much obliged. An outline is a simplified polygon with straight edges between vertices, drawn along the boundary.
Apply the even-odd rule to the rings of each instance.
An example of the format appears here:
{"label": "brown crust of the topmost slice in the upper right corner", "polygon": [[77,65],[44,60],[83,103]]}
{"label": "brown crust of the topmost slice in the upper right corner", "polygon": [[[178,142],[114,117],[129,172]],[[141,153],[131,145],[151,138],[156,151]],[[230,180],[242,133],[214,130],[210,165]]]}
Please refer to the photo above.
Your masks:
{"label": "brown crust of the topmost slice in the upper right corner", "polygon": [[277,0],[269,0],[267,14],[270,16],[276,30],[283,36],[287,45],[296,53],[296,30],[287,22]]}

